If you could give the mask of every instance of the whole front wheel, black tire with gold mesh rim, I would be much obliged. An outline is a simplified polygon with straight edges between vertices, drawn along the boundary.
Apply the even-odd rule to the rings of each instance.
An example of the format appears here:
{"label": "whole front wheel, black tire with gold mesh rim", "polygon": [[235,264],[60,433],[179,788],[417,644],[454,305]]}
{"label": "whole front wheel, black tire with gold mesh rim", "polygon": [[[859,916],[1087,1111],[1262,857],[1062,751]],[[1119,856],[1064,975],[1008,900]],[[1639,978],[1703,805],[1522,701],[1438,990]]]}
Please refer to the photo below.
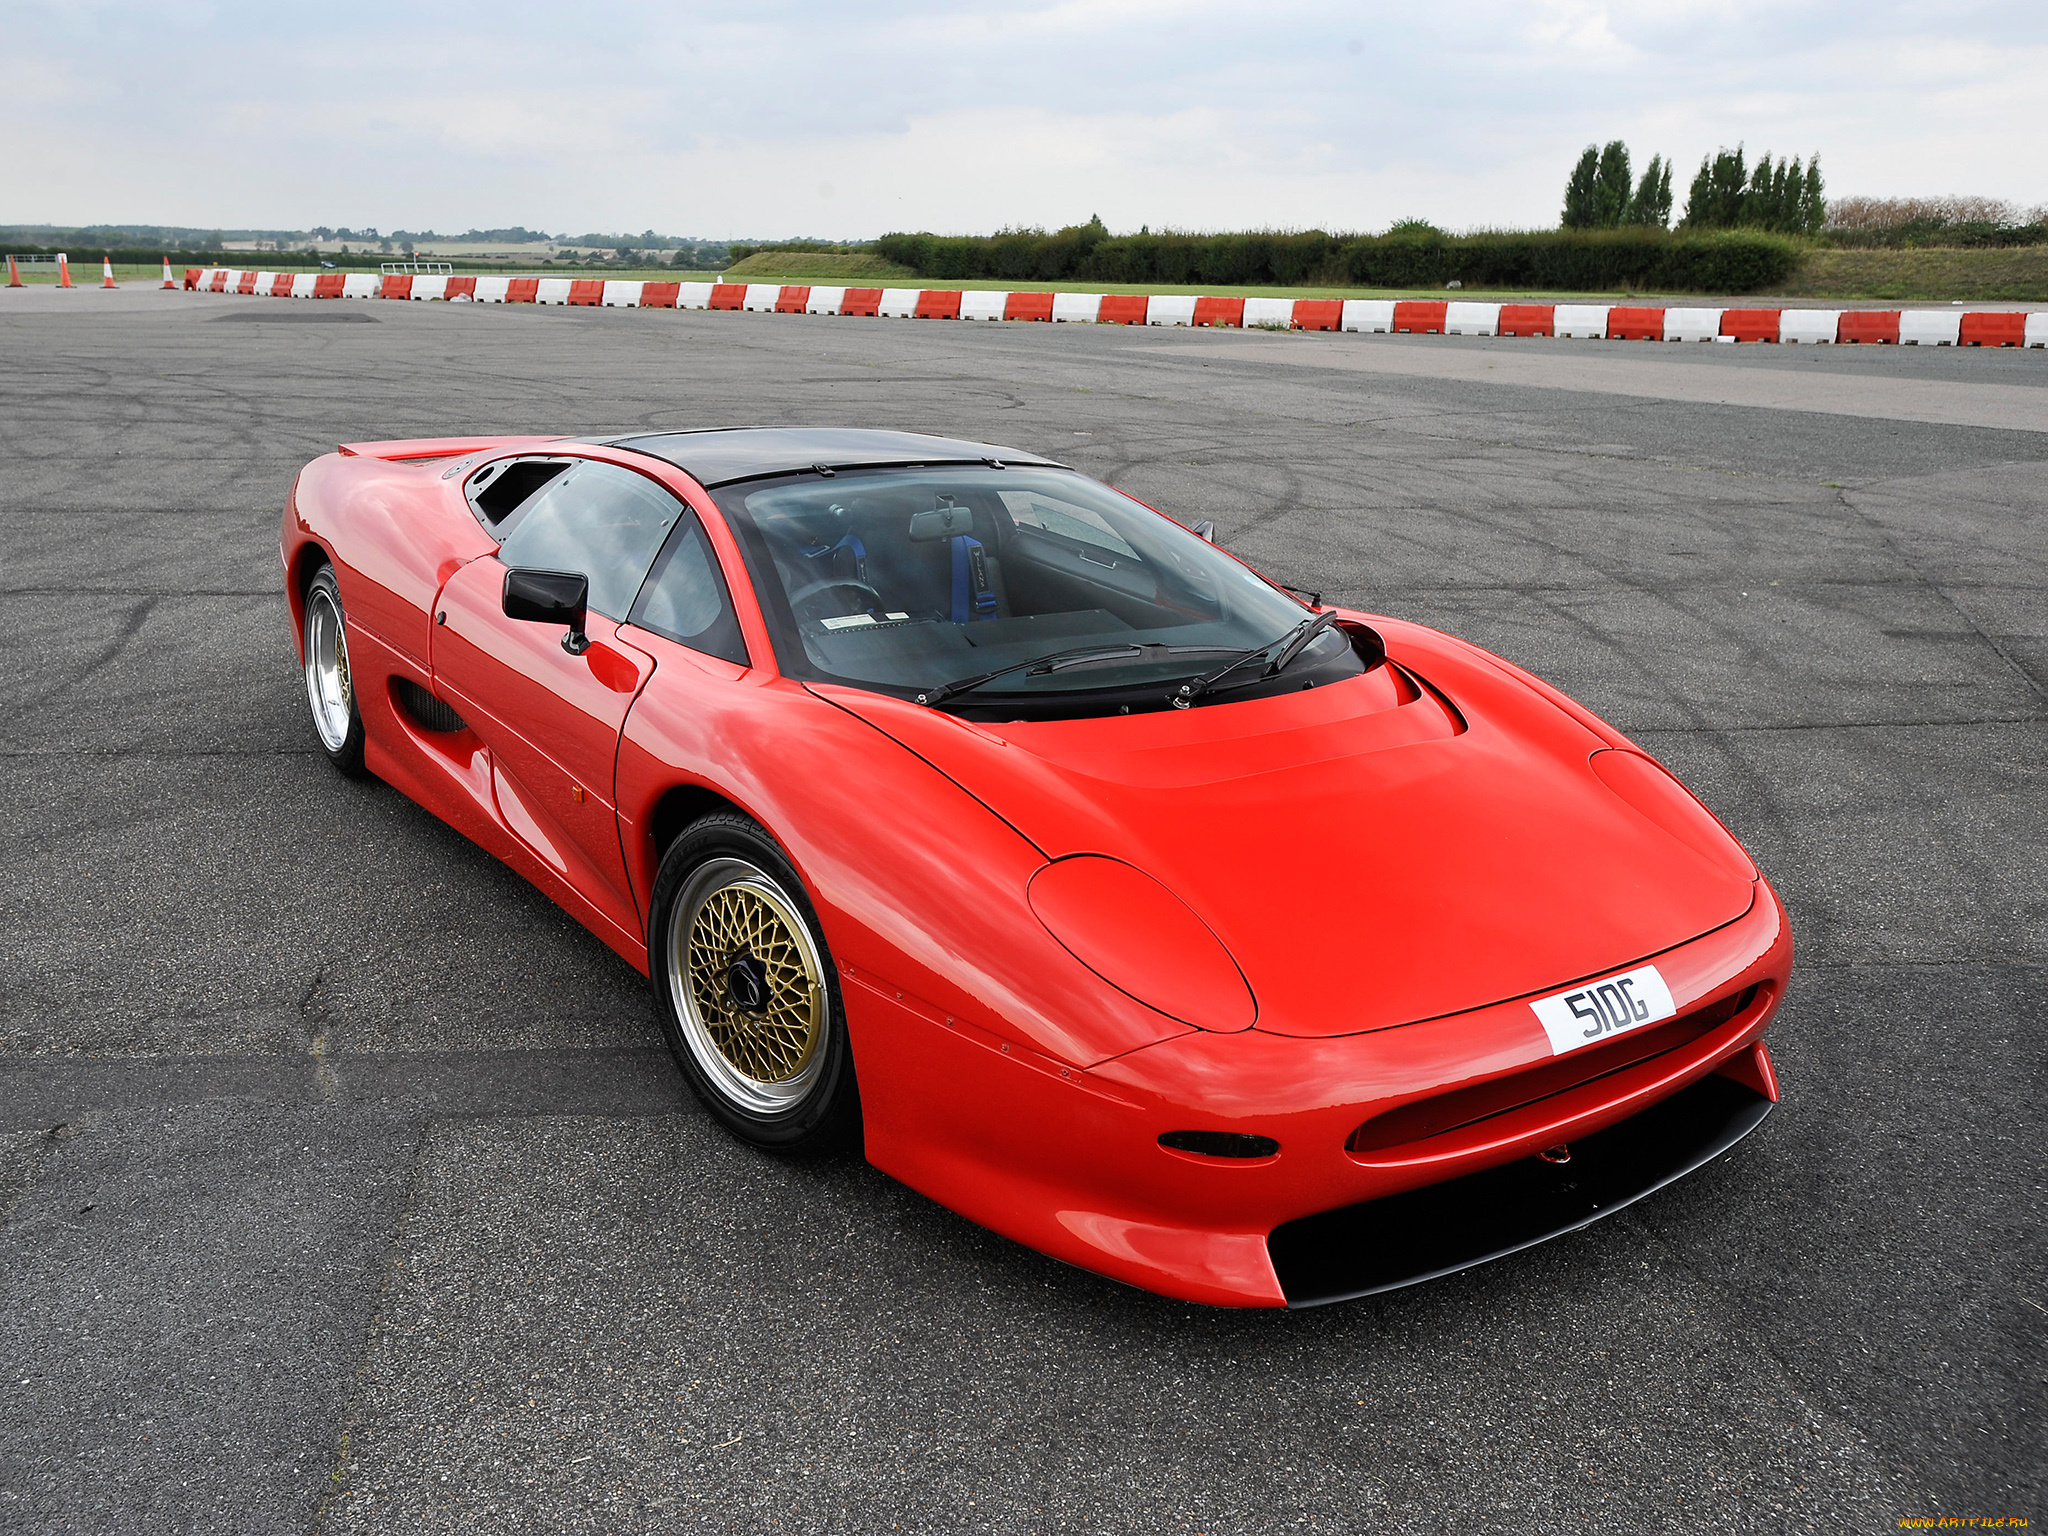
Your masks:
{"label": "whole front wheel, black tire with gold mesh rim", "polygon": [[[741,928],[754,938],[735,944]],[[668,846],[649,901],[647,979],[676,1067],[719,1124],[784,1153],[858,1141],[831,952],[803,879],[760,825],[719,811]]]}

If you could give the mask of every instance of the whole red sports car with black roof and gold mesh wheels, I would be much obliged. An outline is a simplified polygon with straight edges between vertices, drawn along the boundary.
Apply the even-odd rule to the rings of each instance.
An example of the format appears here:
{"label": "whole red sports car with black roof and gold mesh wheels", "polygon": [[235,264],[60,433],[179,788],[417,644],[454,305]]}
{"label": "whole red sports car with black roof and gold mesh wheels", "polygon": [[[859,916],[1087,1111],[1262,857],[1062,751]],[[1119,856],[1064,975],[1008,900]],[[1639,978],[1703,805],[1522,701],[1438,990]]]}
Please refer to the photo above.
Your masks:
{"label": "whole red sports car with black roof and gold mesh wheels", "polygon": [[1487,651],[1014,449],[358,442],[285,504],[326,756],[645,971],[733,1135],[1305,1307],[1583,1227],[1772,1108],[1772,887]]}

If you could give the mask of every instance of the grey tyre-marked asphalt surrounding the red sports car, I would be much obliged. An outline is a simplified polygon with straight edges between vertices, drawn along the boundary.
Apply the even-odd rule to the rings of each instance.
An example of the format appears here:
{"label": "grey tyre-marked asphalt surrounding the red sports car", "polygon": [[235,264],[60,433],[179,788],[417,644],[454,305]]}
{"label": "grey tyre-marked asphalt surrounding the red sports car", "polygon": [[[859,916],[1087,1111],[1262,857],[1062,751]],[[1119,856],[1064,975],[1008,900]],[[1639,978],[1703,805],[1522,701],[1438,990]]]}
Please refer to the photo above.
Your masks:
{"label": "grey tyre-marked asphalt surrounding the red sports car", "polygon": [[[1778,1114],[1300,1315],[735,1145],[313,756],[276,522],[338,440],[739,422],[1042,451],[1585,700],[1792,909]],[[2044,690],[2042,352],[0,293],[0,1530],[2048,1516]]]}

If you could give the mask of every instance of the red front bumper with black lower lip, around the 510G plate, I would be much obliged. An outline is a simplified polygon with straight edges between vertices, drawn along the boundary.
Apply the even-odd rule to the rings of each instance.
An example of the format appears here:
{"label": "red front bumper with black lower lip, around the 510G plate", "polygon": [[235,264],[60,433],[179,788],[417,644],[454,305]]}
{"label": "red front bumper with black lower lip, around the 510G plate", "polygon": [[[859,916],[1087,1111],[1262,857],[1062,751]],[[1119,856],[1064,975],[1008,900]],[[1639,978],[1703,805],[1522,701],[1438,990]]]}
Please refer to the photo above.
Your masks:
{"label": "red front bumper with black lower lip, around the 510G plate", "polygon": [[[1079,1069],[1006,1040],[999,1020],[946,1016],[881,977],[842,979],[879,1167],[1098,1274],[1186,1300],[1288,1307],[1411,1284],[1571,1231],[1747,1133],[1755,1120],[1724,1135],[1737,1108],[1720,1130],[1683,1108],[1729,1098],[1718,1083],[1683,1096],[1718,1077],[1765,1108],[1776,1098],[1761,1034],[1792,971],[1776,893],[1759,881],[1743,918],[1647,958],[1681,1018],[1737,999],[1741,1010],[1653,1057],[1534,1100],[1509,1092],[1505,1108],[1397,1145],[1354,1143],[1354,1133],[1434,1096],[1485,1096],[1569,1061],[1550,1055],[1526,999],[1331,1038],[1188,1032]],[[1683,1106],[1655,1114],[1679,1098]],[[1634,1120],[1579,1163],[1581,1145]],[[1190,1128],[1270,1137],[1280,1151],[1237,1161],[1159,1145]],[[1548,1204],[1520,1219],[1497,1208],[1501,1198],[1524,1198],[1530,1178],[1548,1190],[1548,1176],[1464,1184],[1561,1143],[1581,1174],[1614,1161],[1602,1151],[1610,1145],[1634,1147],[1638,1163],[1597,1174],[1591,1194],[1542,1196]],[[1432,1192],[1438,1214],[1415,1214],[1432,1208],[1421,1198],[1399,1204],[1409,1192]],[[1432,1221],[1444,1229],[1436,1237],[1425,1235]],[[1389,1251],[1364,1262],[1372,1245]]]}

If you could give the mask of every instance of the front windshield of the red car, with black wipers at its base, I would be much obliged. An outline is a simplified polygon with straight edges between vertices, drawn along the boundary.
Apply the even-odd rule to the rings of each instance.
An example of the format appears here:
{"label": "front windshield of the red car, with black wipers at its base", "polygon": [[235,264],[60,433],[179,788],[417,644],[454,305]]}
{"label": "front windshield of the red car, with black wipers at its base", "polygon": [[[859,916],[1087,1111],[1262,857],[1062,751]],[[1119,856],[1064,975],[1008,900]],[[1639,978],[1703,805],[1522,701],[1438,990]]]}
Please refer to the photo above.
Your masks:
{"label": "front windshield of the red car, with black wipers at its base", "polygon": [[[946,709],[1163,709],[1163,684],[1288,635],[1307,610],[1192,532],[1067,469],[840,471],[727,485],[782,670],[915,696],[1024,668]],[[1094,655],[1092,651],[1100,651]],[[1290,686],[1358,672],[1315,637]],[[1217,696],[1243,696],[1247,666]]]}

